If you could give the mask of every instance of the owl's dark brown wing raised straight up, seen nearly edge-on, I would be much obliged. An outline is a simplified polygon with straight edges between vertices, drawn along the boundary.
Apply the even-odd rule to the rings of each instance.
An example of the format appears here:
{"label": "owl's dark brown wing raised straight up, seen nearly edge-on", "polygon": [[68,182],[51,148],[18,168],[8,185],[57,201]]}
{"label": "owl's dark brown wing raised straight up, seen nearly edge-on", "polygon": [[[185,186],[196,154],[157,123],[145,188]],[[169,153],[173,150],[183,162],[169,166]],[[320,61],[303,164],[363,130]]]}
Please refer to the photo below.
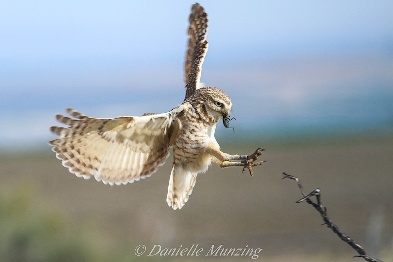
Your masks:
{"label": "owl's dark brown wing raised straight up, seen nearly edge-on", "polygon": [[202,6],[195,3],[191,8],[190,27],[188,29],[188,49],[186,53],[185,77],[186,100],[195,90],[199,89],[202,64],[207,52],[206,32],[208,27],[207,14]]}

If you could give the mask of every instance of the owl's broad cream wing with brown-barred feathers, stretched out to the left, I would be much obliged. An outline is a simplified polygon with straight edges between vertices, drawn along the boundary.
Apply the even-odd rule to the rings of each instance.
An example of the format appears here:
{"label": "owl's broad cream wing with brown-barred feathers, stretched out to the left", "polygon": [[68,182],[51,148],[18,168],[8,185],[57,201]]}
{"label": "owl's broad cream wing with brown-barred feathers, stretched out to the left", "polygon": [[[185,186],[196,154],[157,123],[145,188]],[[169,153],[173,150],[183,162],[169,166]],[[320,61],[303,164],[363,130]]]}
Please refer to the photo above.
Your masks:
{"label": "owl's broad cream wing with brown-barred feathers, stretched out to the left", "polygon": [[68,127],[51,127],[60,136],[49,142],[56,157],[78,177],[119,185],[148,177],[164,164],[180,129],[176,116],[182,106],[115,119],[91,118],[70,108],[67,112],[75,118],[56,118]]}

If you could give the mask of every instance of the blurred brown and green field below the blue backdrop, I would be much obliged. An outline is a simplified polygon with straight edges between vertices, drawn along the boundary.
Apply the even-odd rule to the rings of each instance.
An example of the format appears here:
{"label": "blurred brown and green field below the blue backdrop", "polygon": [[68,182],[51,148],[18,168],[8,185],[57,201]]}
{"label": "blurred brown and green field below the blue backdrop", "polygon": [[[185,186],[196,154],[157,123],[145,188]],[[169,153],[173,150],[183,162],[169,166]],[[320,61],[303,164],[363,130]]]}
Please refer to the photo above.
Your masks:
{"label": "blurred brown and green field below the blue backdrop", "polygon": [[[236,136],[236,140],[238,136]],[[267,160],[254,178],[240,168],[212,166],[200,174],[181,210],[166,204],[171,158],[145,180],[109,186],[72,175],[47,151],[1,154],[1,261],[253,261],[250,257],[204,256],[211,245],[262,248],[256,261],[363,261],[301,198],[320,188],[322,203],[340,229],[373,256],[393,261],[393,136],[360,135],[236,143],[222,150]],[[373,240],[374,239],[374,240]],[[202,256],[134,255],[188,248]]]}

